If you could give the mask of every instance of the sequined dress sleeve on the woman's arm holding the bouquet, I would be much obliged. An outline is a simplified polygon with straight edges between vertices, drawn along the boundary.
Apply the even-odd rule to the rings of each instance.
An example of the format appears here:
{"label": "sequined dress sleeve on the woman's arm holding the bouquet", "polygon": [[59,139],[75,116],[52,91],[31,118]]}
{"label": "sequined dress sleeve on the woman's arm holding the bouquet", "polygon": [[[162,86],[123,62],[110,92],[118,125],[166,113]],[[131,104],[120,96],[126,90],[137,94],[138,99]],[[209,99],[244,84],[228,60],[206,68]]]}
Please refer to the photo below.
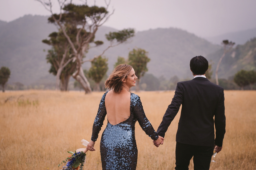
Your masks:
{"label": "sequined dress sleeve on the woman's arm holding the bouquet", "polygon": [[106,111],[106,106],[105,106],[105,97],[106,93],[103,94],[101,98],[101,102],[99,103],[99,109],[98,113],[95,117],[94,123],[93,123],[93,133],[91,135],[91,140],[96,141],[98,138],[99,131],[101,130],[101,127],[103,125],[103,121],[105,120],[107,111]]}

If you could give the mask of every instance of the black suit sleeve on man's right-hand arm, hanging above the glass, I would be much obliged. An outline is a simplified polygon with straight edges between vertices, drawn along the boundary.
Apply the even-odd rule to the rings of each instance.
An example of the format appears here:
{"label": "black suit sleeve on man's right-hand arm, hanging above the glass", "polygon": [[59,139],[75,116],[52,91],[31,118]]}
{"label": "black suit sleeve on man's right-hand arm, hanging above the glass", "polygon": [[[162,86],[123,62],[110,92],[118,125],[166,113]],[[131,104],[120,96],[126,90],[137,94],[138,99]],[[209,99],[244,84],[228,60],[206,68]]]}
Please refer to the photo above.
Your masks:
{"label": "black suit sleeve on man's right-hand arm, hanging above the glass", "polygon": [[226,117],[225,117],[225,106],[224,106],[224,90],[220,93],[220,101],[214,115],[214,124],[216,130],[216,137],[214,144],[222,147],[224,134],[226,132]]}

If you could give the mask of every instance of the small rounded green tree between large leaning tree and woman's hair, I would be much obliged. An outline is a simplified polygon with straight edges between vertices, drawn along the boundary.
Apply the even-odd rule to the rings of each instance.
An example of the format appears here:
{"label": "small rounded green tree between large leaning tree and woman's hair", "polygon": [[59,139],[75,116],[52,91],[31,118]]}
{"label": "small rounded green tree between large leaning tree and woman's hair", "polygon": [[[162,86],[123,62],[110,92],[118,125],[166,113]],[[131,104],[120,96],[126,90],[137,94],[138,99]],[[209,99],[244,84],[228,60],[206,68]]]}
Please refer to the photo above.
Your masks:
{"label": "small rounded green tree between large leaning tree and woman's hair", "polygon": [[100,91],[99,83],[109,69],[107,65],[107,59],[101,56],[98,56],[91,61],[91,68],[89,69],[88,75],[95,81],[96,91]]}

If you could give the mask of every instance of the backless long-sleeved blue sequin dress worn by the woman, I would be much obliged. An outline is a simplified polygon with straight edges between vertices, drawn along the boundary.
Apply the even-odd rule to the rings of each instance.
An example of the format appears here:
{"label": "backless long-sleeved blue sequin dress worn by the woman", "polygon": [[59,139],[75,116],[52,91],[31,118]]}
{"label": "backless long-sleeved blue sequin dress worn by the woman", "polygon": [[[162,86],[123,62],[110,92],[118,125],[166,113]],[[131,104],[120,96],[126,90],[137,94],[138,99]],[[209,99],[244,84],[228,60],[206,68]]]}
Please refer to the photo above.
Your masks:
{"label": "backless long-sleeved blue sequin dress worn by the woman", "polygon": [[[107,91],[108,92],[108,91]],[[97,116],[93,124],[92,141],[96,141],[103,121],[107,114],[105,107],[105,97],[103,94]],[[141,128],[153,140],[158,139],[158,135],[147,119],[141,100],[138,95],[131,93],[130,117],[116,125],[107,121],[107,127],[102,133],[100,152],[103,170],[135,170],[137,166],[138,150],[135,141],[135,123],[138,120]]]}

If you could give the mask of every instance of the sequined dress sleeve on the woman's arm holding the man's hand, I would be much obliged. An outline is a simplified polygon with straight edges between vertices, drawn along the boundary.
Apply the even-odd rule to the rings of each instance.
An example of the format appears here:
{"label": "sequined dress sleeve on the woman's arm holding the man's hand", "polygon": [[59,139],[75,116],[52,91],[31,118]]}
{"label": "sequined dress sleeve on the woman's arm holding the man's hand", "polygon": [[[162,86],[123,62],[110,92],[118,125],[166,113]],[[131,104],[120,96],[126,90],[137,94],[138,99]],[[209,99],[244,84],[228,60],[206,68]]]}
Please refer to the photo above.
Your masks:
{"label": "sequined dress sleeve on the woman's arm holding the man's hand", "polygon": [[131,105],[132,105],[131,108],[132,108],[132,112],[134,113],[134,117],[138,120],[139,125],[141,126],[142,130],[144,130],[146,132],[146,134],[149,137],[151,137],[151,139],[157,140],[158,135],[155,132],[150,121],[147,119],[145,112],[143,110],[141,100],[138,95],[132,93]]}

